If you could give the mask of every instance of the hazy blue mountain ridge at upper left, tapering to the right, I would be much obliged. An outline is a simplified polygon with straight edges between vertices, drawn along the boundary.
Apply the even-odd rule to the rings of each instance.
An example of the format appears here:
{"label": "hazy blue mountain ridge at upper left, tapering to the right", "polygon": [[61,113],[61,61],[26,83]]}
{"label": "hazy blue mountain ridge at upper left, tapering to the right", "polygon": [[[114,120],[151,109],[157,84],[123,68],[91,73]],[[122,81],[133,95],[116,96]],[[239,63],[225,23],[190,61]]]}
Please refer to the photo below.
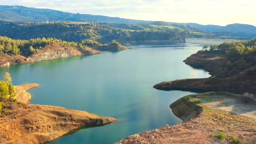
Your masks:
{"label": "hazy blue mountain ridge at upper left, tapering to the right", "polygon": [[[78,21],[93,23],[145,23],[143,20],[129,20],[119,17],[91,14],[67,13],[59,10],[36,9],[23,6],[0,6],[0,20],[12,22]],[[148,21],[149,22],[149,21]]]}

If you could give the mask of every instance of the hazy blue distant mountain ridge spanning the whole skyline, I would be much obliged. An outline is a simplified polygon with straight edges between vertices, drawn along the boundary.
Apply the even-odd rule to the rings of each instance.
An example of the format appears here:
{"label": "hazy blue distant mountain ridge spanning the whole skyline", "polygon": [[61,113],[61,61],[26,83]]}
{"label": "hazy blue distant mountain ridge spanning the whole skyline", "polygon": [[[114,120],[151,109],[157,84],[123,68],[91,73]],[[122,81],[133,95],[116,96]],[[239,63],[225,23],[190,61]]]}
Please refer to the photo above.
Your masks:
{"label": "hazy blue distant mountain ridge spanning the whole skyline", "polygon": [[[119,17],[109,17],[91,14],[68,13],[59,10],[37,9],[23,6],[0,6],[0,20],[11,22],[44,22],[44,21],[72,21],[90,23],[128,23],[143,24],[154,21],[131,20]],[[158,22],[159,23],[159,22]],[[192,26],[207,32],[227,33],[251,39],[256,37],[256,27],[253,25],[234,23],[227,26],[201,25],[198,23],[170,23]]]}

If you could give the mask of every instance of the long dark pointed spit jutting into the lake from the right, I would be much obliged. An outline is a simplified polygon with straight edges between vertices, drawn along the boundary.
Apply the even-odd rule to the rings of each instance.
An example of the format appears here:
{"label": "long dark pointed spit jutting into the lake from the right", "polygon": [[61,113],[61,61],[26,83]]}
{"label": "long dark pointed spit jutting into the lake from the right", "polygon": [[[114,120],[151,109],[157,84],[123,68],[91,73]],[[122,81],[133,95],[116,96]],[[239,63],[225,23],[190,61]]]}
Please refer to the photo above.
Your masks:
{"label": "long dark pointed spit jutting into the lake from the right", "polygon": [[[254,67],[249,70],[256,71]],[[246,71],[248,72],[248,70]],[[246,71],[226,79],[214,77],[204,79],[178,79],[161,82],[153,87],[163,90],[226,91],[237,94],[243,94],[245,92],[256,93],[256,75],[249,75]]]}

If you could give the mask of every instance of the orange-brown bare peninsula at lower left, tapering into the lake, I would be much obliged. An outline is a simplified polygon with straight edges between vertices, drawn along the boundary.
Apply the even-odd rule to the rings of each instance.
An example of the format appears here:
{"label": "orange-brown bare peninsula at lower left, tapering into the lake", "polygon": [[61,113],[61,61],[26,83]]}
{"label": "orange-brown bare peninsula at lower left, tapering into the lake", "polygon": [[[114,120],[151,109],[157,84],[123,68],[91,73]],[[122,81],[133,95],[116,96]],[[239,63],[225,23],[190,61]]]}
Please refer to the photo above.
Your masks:
{"label": "orange-brown bare peninsula at lower left, tapering into the lake", "polygon": [[30,105],[26,92],[37,84],[15,86],[16,100],[21,106],[12,108],[9,115],[0,118],[0,143],[43,144],[77,128],[104,125],[115,118],[100,117],[85,111],[69,110],[48,105]]}

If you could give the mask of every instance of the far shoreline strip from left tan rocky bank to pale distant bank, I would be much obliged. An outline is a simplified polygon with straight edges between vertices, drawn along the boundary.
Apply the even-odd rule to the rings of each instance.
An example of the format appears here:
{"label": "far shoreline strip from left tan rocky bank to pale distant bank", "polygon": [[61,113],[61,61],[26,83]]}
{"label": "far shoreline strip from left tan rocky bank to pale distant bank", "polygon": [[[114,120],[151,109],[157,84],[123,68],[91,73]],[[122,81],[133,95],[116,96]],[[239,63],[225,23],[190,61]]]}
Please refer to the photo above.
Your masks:
{"label": "far shoreline strip from left tan rocky bank to pale distant bank", "polygon": [[[133,44],[160,44],[160,43],[191,43],[190,41],[197,40],[197,44],[209,44],[210,41],[214,41],[216,44],[222,43],[222,41],[225,41],[226,39],[203,39],[203,38],[185,38],[185,39],[170,39],[170,40],[152,40],[152,41],[143,41],[143,42],[129,42],[125,45],[133,45]],[[235,39],[228,39],[229,41],[235,40]],[[205,42],[207,43],[200,43]],[[236,41],[236,40],[235,40]],[[209,42],[209,43],[208,43]],[[211,43],[211,44],[215,44]],[[17,65],[17,64],[26,64],[31,62],[40,62],[50,59],[61,59],[61,58],[68,58],[68,57],[74,57],[74,56],[87,56],[87,55],[95,55],[95,54],[101,54],[104,53],[102,51],[111,51],[111,50],[125,50],[130,49],[129,47],[118,45],[114,46],[112,44],[106,44],[106,45],[100,45],[100,46],[92,46],[91,48],[87,48],[83,51],[79,51],[77,49],[46,49],[42,50],[39,53],[33,54],[29,57],[25,56],[1,56],[0,59],[2,59],[2,62],[0,62],[0,67],[6,67],[10,65]]]}

